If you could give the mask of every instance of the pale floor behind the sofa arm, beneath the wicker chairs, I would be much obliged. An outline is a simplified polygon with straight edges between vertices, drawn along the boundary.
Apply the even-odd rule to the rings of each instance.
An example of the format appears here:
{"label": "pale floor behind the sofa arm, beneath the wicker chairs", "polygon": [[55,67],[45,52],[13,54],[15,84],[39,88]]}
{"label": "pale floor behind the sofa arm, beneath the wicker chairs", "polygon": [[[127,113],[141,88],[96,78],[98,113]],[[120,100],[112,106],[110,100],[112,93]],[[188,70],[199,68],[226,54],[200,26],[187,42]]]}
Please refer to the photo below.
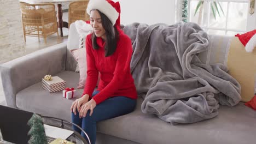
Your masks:
{"label": "pale floor behind the sofa arm, beneath the wicker chairs", "polygon": [[[68,12],[63,13],[62,19],[63,21],[68,22]],[[60,34],[60,29],[59,29],[59,34]],[[37,37],[26,37],[26,45],[25,45],[26,54],[25,55],[40,49],[44,49],[45,47],[62,43],[63,41],[67,41],[67,39],[68,39],[68,28],[63,28],[63,37],[58,38],[56,33],[53,35],[50,35],[46,39],[47,44],[44,43],[43,38],[40,38],[40,41],[38,41]],[[0,76],[0,105],[5,105],[5,98],[3,93],[1,76]]]}

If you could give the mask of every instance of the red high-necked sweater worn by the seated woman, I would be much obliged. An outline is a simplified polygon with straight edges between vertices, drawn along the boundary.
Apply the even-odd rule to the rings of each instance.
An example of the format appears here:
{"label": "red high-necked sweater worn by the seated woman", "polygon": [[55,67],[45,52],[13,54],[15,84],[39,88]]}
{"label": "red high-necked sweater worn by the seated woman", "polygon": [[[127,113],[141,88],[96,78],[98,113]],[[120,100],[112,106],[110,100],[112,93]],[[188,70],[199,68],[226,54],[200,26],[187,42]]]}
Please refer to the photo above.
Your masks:
{"label": "red high-necked sweater worn by the seated woman", "polygon": [[105,42],[101,37],[97,37],[96,40],[99,46],[98,50],[92,48],[92,34],[86,37],[87,78],[83,95],[89,94],[91,98],[97,84],[98,72],[100,72],[100,82],[97,88],[97,91],[100,92],[92,98],[97,104],[107,98],[116,96],[137,99],[137,92],[130,70],[131,39],[123,32],[120,31],[119,33],[117,49],[113,55],[108,57],[105,57]]}

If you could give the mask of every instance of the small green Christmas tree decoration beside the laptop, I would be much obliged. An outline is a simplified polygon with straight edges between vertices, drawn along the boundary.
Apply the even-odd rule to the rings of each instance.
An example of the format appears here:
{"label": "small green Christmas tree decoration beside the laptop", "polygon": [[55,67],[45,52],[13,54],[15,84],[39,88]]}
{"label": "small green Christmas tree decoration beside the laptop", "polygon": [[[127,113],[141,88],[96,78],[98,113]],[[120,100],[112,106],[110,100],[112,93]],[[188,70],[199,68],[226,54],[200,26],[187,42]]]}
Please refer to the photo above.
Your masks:
{"label": "small green Christmas tree decoration beside the laptop", "polygon": [[28,135],[30,135],[29,144],[47,144],[47,139],[44,131],[43,119],[37,114],[33,114],[28,121],[28,125],[30,125],[30,131],[28,131]]}

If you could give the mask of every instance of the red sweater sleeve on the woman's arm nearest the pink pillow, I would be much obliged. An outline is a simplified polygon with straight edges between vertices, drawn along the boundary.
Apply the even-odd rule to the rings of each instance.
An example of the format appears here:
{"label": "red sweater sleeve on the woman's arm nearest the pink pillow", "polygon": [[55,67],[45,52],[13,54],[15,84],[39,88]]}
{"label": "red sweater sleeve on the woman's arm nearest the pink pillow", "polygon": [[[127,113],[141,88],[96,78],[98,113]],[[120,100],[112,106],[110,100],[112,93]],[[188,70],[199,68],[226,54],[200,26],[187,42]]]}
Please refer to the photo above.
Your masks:
{"label": "red sweater sleeve on the woman's arm nearest the pink pillow", "polygon": [[86,61],[87,61],[87,78],[84,85],[84,92],[82,94],[89,94],[90,98],[92,95],[92,92],[94,92],[94,89],[97,85],[98,80],[98,70],[95,65],[95,58],[92,54],[92,45],[90,40],[90,35],[86,37],[85,47],[86,47]]}

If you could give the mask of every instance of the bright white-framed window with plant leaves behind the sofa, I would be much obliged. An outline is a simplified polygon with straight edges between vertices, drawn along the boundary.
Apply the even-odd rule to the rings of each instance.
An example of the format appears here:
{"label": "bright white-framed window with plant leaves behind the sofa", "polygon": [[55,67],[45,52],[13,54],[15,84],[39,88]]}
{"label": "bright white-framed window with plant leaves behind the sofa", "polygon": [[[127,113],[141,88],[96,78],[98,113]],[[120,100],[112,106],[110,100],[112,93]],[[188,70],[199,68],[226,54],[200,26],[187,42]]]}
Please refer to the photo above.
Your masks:
{"label": "bright white-framed window with plant leaves behind the sofa", "polygon": [[[176,8],[181,9],[183,1],[176,0],[176,2]],[[197,9],[199,3],[201,4]],[[217,10],[215,12],[212,10],[212,7],[216,9],[215,4],[219,13]],[[199,24],[208,34],[245,33],[255,29],[255,14],[249,14],[250,4],[251,0],[188,0],[188,21]],[[178,18],[176,22],[181,21],[181,15],[182,11],[176,10],[176,18]]]}

